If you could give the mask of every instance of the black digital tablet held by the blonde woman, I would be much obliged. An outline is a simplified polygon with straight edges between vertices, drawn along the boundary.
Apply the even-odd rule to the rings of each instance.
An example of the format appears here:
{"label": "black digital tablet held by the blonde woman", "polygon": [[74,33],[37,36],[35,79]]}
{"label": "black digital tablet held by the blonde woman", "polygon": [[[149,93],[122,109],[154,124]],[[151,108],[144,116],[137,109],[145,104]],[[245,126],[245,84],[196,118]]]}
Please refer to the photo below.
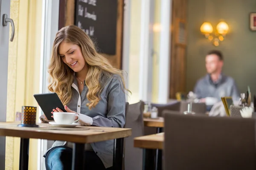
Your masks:
{"label": "black digital tablet held by the blonde woman", "polygon": [[34,94],[34,97],[48,120],[53,120],[51,117],[53,109],[60,108],[63,112],[67,112],[56,93]]}

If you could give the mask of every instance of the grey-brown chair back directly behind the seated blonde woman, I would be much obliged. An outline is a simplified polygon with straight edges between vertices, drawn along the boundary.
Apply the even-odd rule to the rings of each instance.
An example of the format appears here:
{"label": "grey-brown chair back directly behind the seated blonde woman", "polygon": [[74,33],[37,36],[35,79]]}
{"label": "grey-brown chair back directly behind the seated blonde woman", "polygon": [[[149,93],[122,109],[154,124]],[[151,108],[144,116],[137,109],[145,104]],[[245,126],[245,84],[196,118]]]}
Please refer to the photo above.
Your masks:
{"label": "grey-brown chair back directly behind the seated blonde woman", "polygon": [[125,138],[125,170],[142,170],[143,150],[134,147],[134,137],[144,134],[143,108],[142,101],[129,105],[126,115],[125,127],[132,128],[132,134]]}

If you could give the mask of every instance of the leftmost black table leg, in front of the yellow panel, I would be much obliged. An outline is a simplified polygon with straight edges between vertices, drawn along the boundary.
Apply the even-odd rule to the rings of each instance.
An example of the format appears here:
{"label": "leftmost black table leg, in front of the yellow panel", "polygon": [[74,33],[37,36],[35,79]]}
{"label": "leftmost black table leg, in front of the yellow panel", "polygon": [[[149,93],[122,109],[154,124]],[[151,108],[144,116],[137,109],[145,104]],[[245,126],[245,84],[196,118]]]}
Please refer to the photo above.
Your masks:
{"label": "leftmost black table leg, in front of the yellow panel", "polygon": [[20,138],[20,166],[19,170],[29,169],[29,139]]}

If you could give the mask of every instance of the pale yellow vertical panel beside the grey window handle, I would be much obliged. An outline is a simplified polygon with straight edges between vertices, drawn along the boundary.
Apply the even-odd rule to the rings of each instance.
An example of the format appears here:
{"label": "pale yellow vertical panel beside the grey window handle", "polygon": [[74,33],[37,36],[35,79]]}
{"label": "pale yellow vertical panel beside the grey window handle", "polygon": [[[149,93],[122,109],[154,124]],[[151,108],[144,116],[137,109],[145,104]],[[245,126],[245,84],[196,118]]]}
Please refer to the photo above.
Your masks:
{"label": "pale yellow vertical panel beside the grey window handle", "polygon": [[[11,0],[10,17],[15,38],[9,43],[6,121],[15,121],[22,105],[37,106],[33,94],[39,93],[41,57],[42,0]],[[6,170],[19,169],[20,139],[6,138]],[[29,169],[38,165],[38,140],[31,139]]]}

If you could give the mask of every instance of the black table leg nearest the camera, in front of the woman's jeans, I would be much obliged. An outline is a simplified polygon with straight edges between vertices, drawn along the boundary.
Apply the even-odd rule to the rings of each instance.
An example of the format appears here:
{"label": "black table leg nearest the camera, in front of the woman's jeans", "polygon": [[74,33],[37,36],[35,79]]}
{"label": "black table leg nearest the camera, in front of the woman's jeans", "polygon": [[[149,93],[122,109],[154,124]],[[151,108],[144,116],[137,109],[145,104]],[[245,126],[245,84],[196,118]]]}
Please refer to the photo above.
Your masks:
{"label": "black table leg nearest the camera, in front of the woman's jeans", "polygon": [[72,170],[84,170],[84,144],[73,144]]}

